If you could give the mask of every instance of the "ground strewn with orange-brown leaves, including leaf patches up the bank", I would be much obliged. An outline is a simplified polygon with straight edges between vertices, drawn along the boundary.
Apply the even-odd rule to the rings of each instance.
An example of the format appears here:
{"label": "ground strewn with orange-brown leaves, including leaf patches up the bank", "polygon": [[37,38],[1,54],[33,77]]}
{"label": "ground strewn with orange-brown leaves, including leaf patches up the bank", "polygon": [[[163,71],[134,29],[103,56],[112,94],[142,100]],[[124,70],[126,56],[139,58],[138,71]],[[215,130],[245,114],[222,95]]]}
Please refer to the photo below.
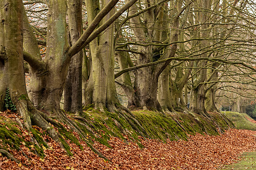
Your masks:
{"label": "ground strewn with orange-brown leaves, including leaf patches up the bank", "polygon": [[[90,115],[92,114],[96,113],[90,112]],[[146,111],[137,114],[137,116],[142,116],[143,114],[146,114]],[[156,113],[151,114],[155,117],[158,115]],[[73,136],[77,137],[80,145],[75,144],[77,142],[73,142],[71,138],[67,139],[70,147],[69,152],[71,153],[71,156],[68,156],[67,152],[59,144],[49,138],[43,130],[34,126],[34,129],[38,131],[37,134],[40,134],[40,137],[43,139],[39,143],[39,146],[43,149],[43,152],[41,152],[36,145],[31,143],[28,131],[18,128],[18,125],[10,126],[9,122],[15,119],[15,115],[2,115],[0,131],[3,131],[3,134],[5,134],[7,131],[4,131],[4,129],[9,129],[9,131],[13,132],[12,136],[22,138],[17,141],[6,135],[8,139],[2,141],[0,146],[4,142],[7,143],[6,146],[9,147],[5,149],[20,162],[14,162],[1,154],[0,169],[221,169],[226,164],[238,162],[239,156],[243,152],[256,151],[256,131],[229,129],[221,135],[209,135],[200,131],[201,134],[187,134],[186,138],[182,135],[181,137],[184,138],[179,137],[180,139],[177,139],[177,141],[171,141],[170,139],[172,138],[167,138],[163,142],[160,139],[138,137],[138,142],[133,139],[134,135],[129,135],[129,133],[135,133],[131,129],[126,129],[127,135],[123,135],[123,138],[114,137],[113,134],[117,132],[110,127],[111,118],[99,115],[97,114],[94,115],[94,118],[90,118],[94,123],[97,122],[97,116],[104,120],[104,124],[100,122],[98,126],[99,128],[104,126],[109,131],[102,131],[98,135],[105,138],[104,141],[107,141],[108,145],[103,145],[102,143],[105,142],[92,138],[89,133],[86,138],[88,141],[94,141],[93,146],[107,160],[95,154],[87,146],[84,139],[79,138],[77,133],[73,133]],[[148,125],[152,126],[152,122],[156,121],[155,117],[152,120],[148,117],[146,121],[150,121]],[[185,118],[183,117],[182,120],[185,121]],[[166,119],[163,119],[163,121],[167,122]],[[158,125],[158,123],[155,122],[155,125]],[[195,122],[192,123],[195,124]],[[185,127],[185,124],[183,126],[189,129],[189,127]],[[157,127],[155,126],[156,129],[158,129]],[[106,138],[104,135],[110,133],[110,131],[113,131],[113,133],[109,134],[108,138]],[[155,137],[158,135],[163,136],[161,133],[155,133],[154,129],[152,129],[152,133],[154,133]],[[35,133],[32,134],[34,135]],[[40,141],[40,137],[36,137],[38,141]],[[48,145],[45,145],[44,141]],[[20,143],[20,146],[13,145],[14,142]],[[38,156],[35,153],[38,155],[39,153],[42,154]]]}

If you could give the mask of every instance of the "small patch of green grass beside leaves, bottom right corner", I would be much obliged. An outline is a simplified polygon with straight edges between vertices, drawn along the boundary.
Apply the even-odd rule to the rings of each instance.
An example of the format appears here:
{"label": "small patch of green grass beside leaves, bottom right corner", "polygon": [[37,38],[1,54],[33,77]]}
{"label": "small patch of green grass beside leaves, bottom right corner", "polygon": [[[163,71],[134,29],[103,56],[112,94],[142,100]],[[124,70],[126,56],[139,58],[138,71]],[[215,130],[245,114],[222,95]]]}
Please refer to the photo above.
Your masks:
{"label": "small patch of green grass beside leaves, bottom right corner", "polygon": [[226,165],[223,169],[256,169],[256,152],[246,152],[236,164]]}

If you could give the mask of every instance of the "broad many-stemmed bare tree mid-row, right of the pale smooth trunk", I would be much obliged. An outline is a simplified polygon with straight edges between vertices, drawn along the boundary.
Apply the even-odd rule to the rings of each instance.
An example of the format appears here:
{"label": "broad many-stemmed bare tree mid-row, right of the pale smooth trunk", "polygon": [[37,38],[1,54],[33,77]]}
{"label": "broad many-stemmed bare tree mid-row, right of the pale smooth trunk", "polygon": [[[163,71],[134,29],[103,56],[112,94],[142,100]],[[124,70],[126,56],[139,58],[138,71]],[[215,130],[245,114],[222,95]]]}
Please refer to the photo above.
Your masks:
{"label": "broad many-stemmed bare tree mid-row, right of the pale smooth trunk", "polygon": [[[180,11],[173,13],[174,16],[171,18],[173,22],[170,24],[173,29],[170,35],[167,31],[168,24],[164,22],[164,20],[170,19],[170,16],[167,15],[168,3],[164,3],[164,1],[159,1],[158,3],[159,6],[156,7],[151,6],[152,2],[143,2],[142,6],[145,8],[145,12],[142,16],[139,15],[142,12],[138,11],[138,6],[140,5],[133,5],[129,11],[131,27],[137,41],[135,45],[138,44],[138,50],[136,52],[138,66],[146,65],[154,60],[174,57],[177,45],[172,44],[172,42],[178,40],[179,18],[192,2],[185,5]],[[175,3],[177,2],[175,1]],[[156,8],[152,9],[152,7]],[[117,49],[118,48],[121,47],[117,46]],[[156,56],[158,57],[155,58]],[[125,62],[125,60],[121,59],[119,59],[119,61]],[[159,63],[158,65],[148,65],[147,67],[136,70],[133,88],[129,87],[130,83],[119,83],[123,86],[123,89],[126,90],[126,94],[129,94],[127,96],[132,97],[132,99],[129,99],[129,107],[135,106],[137,108],[155,108],[159,111],[162,110],[157,100],[158,78],[170,62],[171,59]]]}

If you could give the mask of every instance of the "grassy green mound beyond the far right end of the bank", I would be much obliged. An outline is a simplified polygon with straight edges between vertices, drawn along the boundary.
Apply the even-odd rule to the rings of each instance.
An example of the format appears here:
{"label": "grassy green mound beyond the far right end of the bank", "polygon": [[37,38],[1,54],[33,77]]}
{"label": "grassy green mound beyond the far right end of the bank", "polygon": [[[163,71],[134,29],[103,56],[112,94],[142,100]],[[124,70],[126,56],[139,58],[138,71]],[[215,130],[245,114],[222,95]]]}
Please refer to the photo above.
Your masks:
{"label": "grassy green mound beyond the far right end of the bank", "polygon": [[247,120],[247,118],[253,120],[248,114],[237,112],[226,112],[225,114],[226,117],[228,117],[233,122],[237,129],[247,129],[256,131],[256,124]]}

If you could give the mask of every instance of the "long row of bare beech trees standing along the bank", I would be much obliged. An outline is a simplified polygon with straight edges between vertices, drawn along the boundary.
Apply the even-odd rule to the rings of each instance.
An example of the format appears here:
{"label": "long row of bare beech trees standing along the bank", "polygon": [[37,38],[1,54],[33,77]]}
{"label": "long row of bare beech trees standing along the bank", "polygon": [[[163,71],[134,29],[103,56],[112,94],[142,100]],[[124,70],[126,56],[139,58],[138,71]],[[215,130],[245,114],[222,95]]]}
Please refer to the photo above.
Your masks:
{"label": "long row of bare beech trees standing along the bank", "polygon": [[49,116],[76,126],[60,109],[63,92],[65,111],[76,113],[90,104],[129,112],[116,86],[128,108],[203,116],[217,111],[216,92],[255,99],[255,7],[250,0],[3,0],[0,107],[9,87],[27,128],[32,120],[54,138]]}

